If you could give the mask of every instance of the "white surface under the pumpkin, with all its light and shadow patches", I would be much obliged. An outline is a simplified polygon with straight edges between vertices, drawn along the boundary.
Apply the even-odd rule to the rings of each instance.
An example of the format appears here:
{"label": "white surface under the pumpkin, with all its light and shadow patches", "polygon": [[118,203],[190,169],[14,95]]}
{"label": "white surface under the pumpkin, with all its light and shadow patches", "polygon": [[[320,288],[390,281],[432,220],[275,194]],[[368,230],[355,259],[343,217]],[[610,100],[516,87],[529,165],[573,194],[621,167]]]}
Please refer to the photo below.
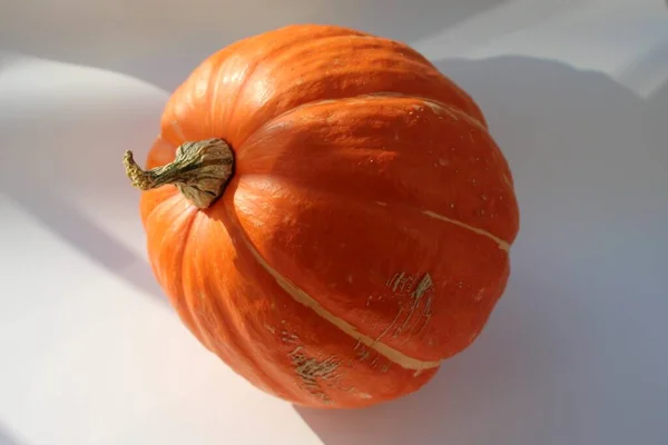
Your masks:
{"label": "white surface under the pumpkin, with all its light and shadow patches", "polygon": [[[0,49],[23,55],[0,59],[0,444],[668,443],[660,0],[3,3]],[[295,409],[190,337],[120,167],[157,131],[167,93],[146,82],[170,89],[232,39],[297,21],[436,60],[485,111],[522,210],[480,339],[363,412]]]}

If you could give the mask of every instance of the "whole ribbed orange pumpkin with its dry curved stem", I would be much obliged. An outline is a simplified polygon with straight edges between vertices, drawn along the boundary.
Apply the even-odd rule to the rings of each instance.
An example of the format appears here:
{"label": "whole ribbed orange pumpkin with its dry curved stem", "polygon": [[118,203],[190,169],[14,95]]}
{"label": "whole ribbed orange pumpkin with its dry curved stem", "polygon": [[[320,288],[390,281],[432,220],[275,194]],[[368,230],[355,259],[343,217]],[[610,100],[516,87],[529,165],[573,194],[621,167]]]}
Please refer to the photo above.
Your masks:
{"label": "whole ribbed orange pumpkin with its dry curved stem", "polygon": [[140,217],[183,323],[258,388],[354,408],[480,334],[519,229],[471,97],[409,46],[334,26],[237,41],[173,93]]}

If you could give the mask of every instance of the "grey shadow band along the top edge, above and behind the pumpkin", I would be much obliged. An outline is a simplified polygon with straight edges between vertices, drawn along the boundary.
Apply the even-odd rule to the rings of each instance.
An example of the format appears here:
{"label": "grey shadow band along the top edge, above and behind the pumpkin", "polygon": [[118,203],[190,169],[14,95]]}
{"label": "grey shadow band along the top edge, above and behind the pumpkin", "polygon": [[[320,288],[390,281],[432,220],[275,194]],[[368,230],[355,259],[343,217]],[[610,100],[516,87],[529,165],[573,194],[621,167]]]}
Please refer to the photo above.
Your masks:
{"label": "grey shadow band along the top edge, above and behind the pumpkin", "polygon": [[148,0],[129,8],[26,0],[3,6],[0,49],[124,72],[170,91],[210,53],[273,28],[333,23],[412,41],[507,1]]}

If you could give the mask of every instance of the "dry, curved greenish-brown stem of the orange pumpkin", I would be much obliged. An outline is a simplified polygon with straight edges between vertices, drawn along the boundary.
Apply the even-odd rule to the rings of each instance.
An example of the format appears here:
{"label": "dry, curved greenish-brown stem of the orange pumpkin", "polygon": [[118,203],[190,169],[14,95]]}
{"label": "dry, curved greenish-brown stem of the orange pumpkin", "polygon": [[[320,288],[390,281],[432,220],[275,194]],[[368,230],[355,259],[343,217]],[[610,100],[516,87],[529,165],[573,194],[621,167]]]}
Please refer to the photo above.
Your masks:
{"label": "dry, curved greenish-brown stem of the orange pumpkin", "polygon": [[223,139],[207,139],[183,144],[174,161],[163,167],[143,170],[129,150],[124,165],[134,187],[150,190],[171,184],[197,208],[205,209],[223,195],[232,178],[234,154]]}

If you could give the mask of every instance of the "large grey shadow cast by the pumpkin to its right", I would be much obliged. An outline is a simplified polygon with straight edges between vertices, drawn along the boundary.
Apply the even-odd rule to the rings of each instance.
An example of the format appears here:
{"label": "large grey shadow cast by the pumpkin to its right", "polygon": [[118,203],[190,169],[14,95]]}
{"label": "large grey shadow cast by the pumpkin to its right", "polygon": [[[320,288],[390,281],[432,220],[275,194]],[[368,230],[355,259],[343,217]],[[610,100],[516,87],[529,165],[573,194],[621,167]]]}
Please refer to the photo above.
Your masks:
{"label": "large grey shadow cast by the pumpkin to its right", "polygon": [[481,103],[513,169],[522,228],[508,290],[418,394],[297,412],[326,445],[664,444],[668,89],[648,102],[523,57],[438,65]]}

